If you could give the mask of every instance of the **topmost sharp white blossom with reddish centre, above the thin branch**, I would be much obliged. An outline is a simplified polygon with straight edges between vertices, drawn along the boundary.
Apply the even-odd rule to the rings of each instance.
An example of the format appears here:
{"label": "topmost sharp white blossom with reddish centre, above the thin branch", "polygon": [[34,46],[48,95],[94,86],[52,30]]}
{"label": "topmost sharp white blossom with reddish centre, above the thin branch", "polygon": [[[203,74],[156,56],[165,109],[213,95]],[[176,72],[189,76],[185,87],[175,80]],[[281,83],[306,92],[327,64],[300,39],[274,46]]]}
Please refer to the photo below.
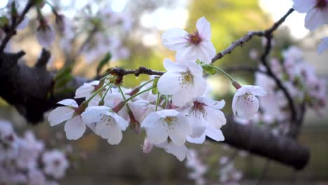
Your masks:
{"label": "topmost sharp white blossom with reddish centre, above the thin branch", "polygon": [[210,41],[210,22],[202,17],[197,20],[197,30],[193,34],[179,29],[169,29],[162,35],[163,45],[170,50],[176,50],[178,62],[196,62],[200,60],[209,64],[216,54],[216,50]]}

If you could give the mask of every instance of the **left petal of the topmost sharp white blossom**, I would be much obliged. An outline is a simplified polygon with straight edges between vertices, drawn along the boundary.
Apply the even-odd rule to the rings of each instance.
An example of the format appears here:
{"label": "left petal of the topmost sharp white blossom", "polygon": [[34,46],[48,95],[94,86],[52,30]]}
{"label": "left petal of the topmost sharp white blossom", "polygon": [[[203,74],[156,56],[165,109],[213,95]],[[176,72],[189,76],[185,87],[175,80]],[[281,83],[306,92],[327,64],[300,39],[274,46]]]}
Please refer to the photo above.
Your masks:
{"label": "left petal of the topmost sharp white blossom", "polygon": [[162,43],[169,50],[179,50],[188,44],[187,35],[188,33],[182,29],[169,29],[162,34]]}

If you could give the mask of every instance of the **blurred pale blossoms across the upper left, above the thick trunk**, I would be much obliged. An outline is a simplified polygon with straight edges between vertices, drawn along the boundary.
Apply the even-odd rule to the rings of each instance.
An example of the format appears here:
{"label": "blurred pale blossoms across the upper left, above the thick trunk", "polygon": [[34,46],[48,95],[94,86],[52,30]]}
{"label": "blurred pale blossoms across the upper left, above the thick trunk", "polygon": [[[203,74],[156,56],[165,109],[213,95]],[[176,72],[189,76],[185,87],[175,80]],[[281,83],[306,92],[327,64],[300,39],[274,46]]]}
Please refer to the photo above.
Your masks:
{"label": "blurred pale blossoms across the upper left, above the thick trunk", "polygon": [[[18,18],[22,11],[20,8],[24,7],[22,5],[24,2],[21,1],[7,2],[6,6],[0,10],[1,21],[6,20],[1,27],[8,26],[8,22],[11,22],[13,19],[11,17],[14,15],[15,19]],[[49,22],[47,16],[43,15],[43,6],[50,6],[55,15],[55,24]],[[67,17],[59,13],[49,1],[36,4],[36,19],[39,22],[35,30],[36,41],[43,48],[50,50],[56,37],[59,36],[60,49],[65,55],[83,56],[89,64],[100,60],[107,53],[111,53],[113,61],[126,59],[130,55],[130,50],[123,45],[122,41],[132,28],[132,19],[128,13],[117,13],[107,6],[103,7],[93,13],[87,5],[76,15]],[[13,13],[13,10],[17,13]],[[16,29],[25,29],[27,25],[29,25],[29,18],[25,16]],[[4,36],[2,32],[1,29],[0,41]],[[76,51],[76,48],[79,49]],[[7,45],[6,51],[11,51],[10,44]]]}

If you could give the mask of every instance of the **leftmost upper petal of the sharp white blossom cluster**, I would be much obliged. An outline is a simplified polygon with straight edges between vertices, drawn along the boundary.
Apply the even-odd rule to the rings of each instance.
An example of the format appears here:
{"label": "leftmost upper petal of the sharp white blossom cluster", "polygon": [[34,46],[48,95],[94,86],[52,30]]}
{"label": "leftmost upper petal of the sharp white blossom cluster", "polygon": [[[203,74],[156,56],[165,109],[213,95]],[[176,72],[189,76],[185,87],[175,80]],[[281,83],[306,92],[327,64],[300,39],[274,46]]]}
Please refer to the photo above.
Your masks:
{"label": "leftmost upper petal of the sharp white blossom cluster", "polygon": [[48,116],[48,121],[50,122],[50,126],[58,125],[68,119],[72,118],[74,115],[74,110],[69,107],[57,107],[53,111],[50,112]]}

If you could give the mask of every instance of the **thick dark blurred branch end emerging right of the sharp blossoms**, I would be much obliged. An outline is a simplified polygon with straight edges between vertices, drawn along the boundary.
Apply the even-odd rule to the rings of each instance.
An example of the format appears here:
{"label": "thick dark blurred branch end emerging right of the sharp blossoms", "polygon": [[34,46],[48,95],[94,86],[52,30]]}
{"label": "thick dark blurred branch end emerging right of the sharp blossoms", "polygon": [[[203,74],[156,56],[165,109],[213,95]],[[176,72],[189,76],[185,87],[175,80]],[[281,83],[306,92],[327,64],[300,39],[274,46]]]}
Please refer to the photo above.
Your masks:
{"label": "thick dark blurred branch end emerging right of the sharp blossoms", "polygon": [[224,143],[294,167],[296,170],[305,167],[310,158],[308,149],[294,139],[273,135],[271,130],[260,128],[258,125],[241,125],[230,119],[221,130],[225,137]]}

